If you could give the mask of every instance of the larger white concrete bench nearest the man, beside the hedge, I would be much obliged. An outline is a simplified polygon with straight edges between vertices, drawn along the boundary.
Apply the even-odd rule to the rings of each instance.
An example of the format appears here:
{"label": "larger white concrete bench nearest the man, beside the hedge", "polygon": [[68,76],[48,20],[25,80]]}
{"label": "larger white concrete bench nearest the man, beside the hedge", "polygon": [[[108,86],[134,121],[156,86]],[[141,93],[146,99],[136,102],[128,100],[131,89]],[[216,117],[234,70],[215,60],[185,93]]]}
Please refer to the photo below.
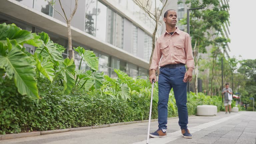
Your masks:
{"label": "larger white concrete bench nearest the man, beside the hedge", "polygon": [[196,107],[198,116],[214,116],[217,115],[217,106],[214,105],[199,105]]}

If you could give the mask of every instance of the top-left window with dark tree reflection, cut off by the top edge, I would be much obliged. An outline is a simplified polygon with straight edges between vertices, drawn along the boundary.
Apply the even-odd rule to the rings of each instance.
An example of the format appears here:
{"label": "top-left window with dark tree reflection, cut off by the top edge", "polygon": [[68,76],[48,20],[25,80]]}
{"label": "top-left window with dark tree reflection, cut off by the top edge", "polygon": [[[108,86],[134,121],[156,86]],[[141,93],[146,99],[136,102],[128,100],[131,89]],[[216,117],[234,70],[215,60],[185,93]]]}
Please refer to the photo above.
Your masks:
{"label": "top-left window with dark tree reflection, cut off by the top edge", "polygon": [[40,11],[49,16],[53,16],[53,8],[52,6],[45,0],[34,0],[35,10]]}

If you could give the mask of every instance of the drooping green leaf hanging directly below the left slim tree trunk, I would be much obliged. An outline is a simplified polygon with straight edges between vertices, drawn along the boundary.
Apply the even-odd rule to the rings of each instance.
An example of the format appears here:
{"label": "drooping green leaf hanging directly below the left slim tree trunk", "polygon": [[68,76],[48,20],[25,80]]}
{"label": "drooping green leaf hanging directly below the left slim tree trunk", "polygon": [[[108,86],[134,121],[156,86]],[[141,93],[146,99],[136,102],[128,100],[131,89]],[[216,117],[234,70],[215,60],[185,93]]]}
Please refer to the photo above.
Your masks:
{"label": "drooping green leaf hanging directly below the left slim tree trunk", "polygon": [[75,72],[75,64],[73,59],[66,58],[64,62],[60,64],[61,69],[61,75],[64,80],[64,93],[69,94],[72,90],[72,87],[75,85],[75,78],[74,78],[74,72]]}

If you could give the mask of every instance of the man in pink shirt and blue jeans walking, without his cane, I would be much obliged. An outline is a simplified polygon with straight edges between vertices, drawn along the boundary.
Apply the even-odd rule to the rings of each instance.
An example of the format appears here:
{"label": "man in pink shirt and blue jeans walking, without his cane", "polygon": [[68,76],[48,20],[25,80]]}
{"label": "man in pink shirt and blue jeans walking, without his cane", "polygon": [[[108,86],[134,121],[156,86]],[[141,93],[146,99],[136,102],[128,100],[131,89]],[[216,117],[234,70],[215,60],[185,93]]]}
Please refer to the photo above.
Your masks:
{"label": "man in pink shirt and blue jeans walking, without his cane", "polygon": [[[168,99],[173,88],[174,97],[178,107],[179,126],[184,138],[192,138],[188,124],[187,111],[187,82],[192,80],[194,58],[192,54],[191,38],[188,33],[176,27],[177,13],[168,10],[163,18],[166,32],[156,41],[150,66],[150,82],[156,79],[156,70],[160,66],[158,80],[158,130],[151,133],[151,137],[165,137],[167,129]],[[162,58],[162,59],[161,59]],[[161,61],[160,61],[161,59]],[[160,63],[159,63],[160,61]],[[185,64],[188,71],[186,71]]]}

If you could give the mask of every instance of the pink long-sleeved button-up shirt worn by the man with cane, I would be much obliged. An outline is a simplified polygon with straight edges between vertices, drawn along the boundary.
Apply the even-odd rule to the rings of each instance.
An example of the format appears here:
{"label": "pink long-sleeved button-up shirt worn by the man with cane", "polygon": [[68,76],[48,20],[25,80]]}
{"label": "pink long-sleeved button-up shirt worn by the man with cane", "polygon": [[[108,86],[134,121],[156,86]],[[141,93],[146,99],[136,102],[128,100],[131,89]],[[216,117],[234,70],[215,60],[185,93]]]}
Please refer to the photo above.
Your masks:
{"label": "pink long-sleeved button-up shirt worn by the man with cane", "polygon": [[179,63],[186,64],[188,68],[194,69],[195,67],[191,38],[188,33],[176,27],[176,31],[172,35],[166,31],[157,39],[149,69],[157,70],[158,66]]}

